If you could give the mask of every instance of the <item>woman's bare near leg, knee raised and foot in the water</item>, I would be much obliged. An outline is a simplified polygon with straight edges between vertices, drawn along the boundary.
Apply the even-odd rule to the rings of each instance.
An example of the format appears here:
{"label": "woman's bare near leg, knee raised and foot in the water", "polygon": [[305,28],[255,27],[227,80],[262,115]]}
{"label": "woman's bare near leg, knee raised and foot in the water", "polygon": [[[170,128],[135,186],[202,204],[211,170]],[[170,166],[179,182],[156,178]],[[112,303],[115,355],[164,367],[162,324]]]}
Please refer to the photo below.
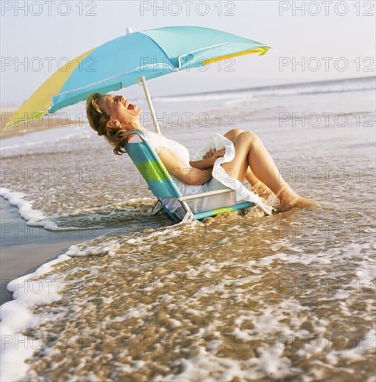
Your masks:
{"label": "woman's bare near leg, knee raised and foot in the water", "polygon": [[232,140],[235,157],[231,162],[223,163],[222,167],[232,178],[243,182],[248,166],[255,177],[268,186],[280,199],[280,210],[293,206],[308,206],[312,201],[300,197],[284,181],[270,153],[264,147],[255,133],[243,131]]}

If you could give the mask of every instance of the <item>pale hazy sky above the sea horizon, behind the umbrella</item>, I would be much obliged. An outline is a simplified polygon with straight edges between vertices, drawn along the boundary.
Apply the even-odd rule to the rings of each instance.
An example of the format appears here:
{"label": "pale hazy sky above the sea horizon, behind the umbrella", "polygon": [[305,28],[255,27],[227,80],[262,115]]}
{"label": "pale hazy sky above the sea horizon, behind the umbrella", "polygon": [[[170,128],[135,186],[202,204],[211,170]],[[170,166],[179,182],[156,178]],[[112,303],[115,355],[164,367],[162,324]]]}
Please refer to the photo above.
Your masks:
{"label": "pale hazy sky above the sea horizon, behind the umbrella", "polygon": [[[67,60],[128,26],[205,26],[273,47],[262,58],[154,78],[152,97],[375,76],[375,8],[334,0],[1,1],[1,107],[21,106]],[[124,92],[138,97],[142,89]]]}

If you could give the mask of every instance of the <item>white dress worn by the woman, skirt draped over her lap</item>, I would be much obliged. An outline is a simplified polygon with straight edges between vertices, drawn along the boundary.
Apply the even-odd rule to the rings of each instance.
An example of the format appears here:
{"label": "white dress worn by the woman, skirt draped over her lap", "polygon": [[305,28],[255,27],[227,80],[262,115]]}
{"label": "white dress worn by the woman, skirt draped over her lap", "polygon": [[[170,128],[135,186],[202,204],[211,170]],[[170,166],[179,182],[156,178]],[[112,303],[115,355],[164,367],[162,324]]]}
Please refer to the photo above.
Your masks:
{"label": "white dress worn by the woman, skirt draped over her lap", "polygon": [[[158,153],[162,147],[170,149],[173,153],[176,153],[184,163],[189,165],[189,151],[182,144],[166,138],[162,134],[154,133],[153,131],[144,131],[148,142],[151,144],[151,147],[155,149],[155,152]],[[134,135],[129,142],[139,142],[140,138],[138,135]],[[229,192],[228,194],[214,195],[212,197],[204,197],[195,200],[188,201],[187,204],[191,208],[193,213],[202,213],[210,210],[216,210],[217,208],[224,208],[234,206],[234,204],[242,203],[243,201],[253,201],[257,204],[264,204],[262,200],[255,195],[253,192],[248,190],[243,186],[243,184],[237,179],[231,178],[225,172],[225,169],[221,166],[221,163],[230,162],[235,155],[234,144],[232,141],[225,138],[219,133],[212,133],[210,135],[210,140],[205,144],[205,146],[198,151],[193,160],[200,160],[203,158],[205,153],[212,148],[217,150],[225,147],[225,156],[218,158],[214,163],[212,171],[212,179],[207,183],[202,185],[187,185],[179,181],[178,178],[171,174],[171,178],[175,181],[176,186],[182,193],[182,195],[196,194],[198,192],[220,190],[223,188],[231,188],[235,192]],[[185,211],[181,207],[179,201],[175,198],[166,198],[161,199],[162,203],[168,210],[172,213],[176,213],[180,219],[185,216]]]}

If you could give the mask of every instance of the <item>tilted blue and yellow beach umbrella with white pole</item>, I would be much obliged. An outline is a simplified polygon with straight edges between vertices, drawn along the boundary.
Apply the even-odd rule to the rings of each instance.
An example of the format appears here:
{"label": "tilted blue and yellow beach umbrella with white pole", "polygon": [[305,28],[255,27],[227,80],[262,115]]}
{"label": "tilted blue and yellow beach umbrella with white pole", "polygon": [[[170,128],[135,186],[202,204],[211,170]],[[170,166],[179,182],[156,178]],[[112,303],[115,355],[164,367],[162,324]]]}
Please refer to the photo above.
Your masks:
{"label": "tilted blue and yellow beach umbrella with white pole", "polygon": [[145,79],[248,53],[263,56],[268,49],[266,44],[199,26],[166,26],[143,32],[127,28],[126,35],[60,67],[12,115],[6,128],[55,113],[85,100],[92,92],[105,94],[139,83],[160,133]]}

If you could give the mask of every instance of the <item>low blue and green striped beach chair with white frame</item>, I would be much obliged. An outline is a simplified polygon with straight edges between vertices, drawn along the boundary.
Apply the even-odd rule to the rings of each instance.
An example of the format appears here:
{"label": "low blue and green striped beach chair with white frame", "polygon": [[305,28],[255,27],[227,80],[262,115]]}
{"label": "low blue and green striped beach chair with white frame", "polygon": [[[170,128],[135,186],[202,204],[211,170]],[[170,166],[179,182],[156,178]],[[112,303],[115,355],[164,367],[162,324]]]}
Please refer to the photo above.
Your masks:
{"label": "low blue and green striped beach chair with white frame", "polygon": [[212,197],[218,194],[225,194],[227,192],[234,192],[234,190],[213,190],[208,192],[198,192],[197,194],[182,195],[178,187],[176,186],[173,178],[171,178],[169,172],[164,167],[164,164],[160,160],[157,153],[151,147],[148,142],[148,138],[142,130],[135,129],[133,131],[127,131],[122,133],[122,136],[137,134],[141,138],[142,142],[127,142],[124,144],[123,149],[128,153],[130,159],[133,161],[137,169],[139,170],[142,177],[148,184],[148,188],[153,192],[154,196],[157,197],[157,202],[153,206],[151,211],[152,214],[157,213],[162,208],[163,210],[175,221],[180,222],[178,215],[171,213],[160,201],[160,198],[176,198],[182,208],[185,210],[185,217],[182,222],[187,222],[189,220],[203,219],[208,216],[215,216],[219,213],[225,213],[231,210],[240,210],[241,208],[247,208],[254,206],[250,201],[235,204],[231,207],[219,208],[211,211],[204,211],[202,213],[194,214],[189,208],[187,201],[202,197]]}

